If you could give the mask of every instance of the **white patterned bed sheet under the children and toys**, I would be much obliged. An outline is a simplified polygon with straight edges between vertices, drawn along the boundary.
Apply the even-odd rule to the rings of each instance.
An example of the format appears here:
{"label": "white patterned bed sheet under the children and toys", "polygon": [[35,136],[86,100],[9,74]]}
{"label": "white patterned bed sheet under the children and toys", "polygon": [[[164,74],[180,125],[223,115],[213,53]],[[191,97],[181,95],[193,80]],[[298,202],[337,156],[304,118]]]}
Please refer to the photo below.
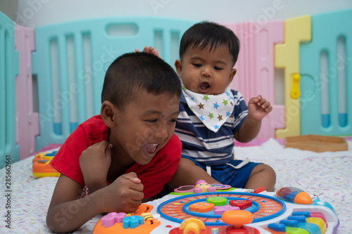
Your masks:
{"label": "white patterned bed sheet under the children and toys", "polygon": [[[6,171],[0,169],[0,233],[50,233],[45,219],[57,178],[32,176],[33,157],[11,164],[11,209],[6,209]],[[317,153],[284,148],[270,139],[260,146],[237,147],[236,157],[249,157],[275,169],[275,190],[293,186],[323,198],[337,212],[340,220],[337,233],[352,233],[352,141],[348,141],[348,151]],[[8,210],[11,228],[6,228]],[[92,233],[100,218],[96,216],[74,233]]]}

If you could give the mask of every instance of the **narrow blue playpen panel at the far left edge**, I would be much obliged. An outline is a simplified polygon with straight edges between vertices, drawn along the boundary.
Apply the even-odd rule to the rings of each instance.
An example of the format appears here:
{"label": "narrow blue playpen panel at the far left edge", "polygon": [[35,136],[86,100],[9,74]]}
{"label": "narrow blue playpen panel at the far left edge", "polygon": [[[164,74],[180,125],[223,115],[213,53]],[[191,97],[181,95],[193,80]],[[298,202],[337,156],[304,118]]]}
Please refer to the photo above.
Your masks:
{"label": "narrow blue playpen panel at the far left edge", "polygon": [[[15,76],[18,74],[18,53],[15,51],[15,24],[0,12],[0,168],[20,159],[16,145]],[[6,155],[10,157],[6,157]]]}

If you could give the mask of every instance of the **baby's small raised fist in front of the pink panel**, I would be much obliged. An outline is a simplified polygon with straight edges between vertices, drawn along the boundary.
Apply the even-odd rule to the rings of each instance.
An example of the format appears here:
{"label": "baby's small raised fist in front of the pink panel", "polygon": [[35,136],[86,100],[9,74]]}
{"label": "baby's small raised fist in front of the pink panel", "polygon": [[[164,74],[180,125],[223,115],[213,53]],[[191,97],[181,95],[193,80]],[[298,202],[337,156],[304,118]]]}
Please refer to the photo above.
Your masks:
{"label": "baby's small raised fist in front of the pink panel", "polygon": [[251,98],[248,103],[248,115],[254,119],[261,120],[272,111],[270,102],[261,95]]}

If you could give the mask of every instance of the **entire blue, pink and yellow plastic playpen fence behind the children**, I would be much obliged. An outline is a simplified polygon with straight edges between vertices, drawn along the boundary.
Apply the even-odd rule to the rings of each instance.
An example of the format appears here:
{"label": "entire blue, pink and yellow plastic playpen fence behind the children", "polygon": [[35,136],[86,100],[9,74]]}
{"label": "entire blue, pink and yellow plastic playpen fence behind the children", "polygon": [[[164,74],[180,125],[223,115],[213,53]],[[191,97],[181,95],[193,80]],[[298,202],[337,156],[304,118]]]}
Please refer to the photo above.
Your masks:
{"label": "entire blue, pink and yellow plastic playpen fence behind the children", "polygon": [[[274,107],[258,138],[352,135],[348,22],[352,9],[222,23],[241,42],[231,87],[246,100],[262,94]],[[49,143],[63,143],[78,124],[99,114],[104,74],[122,53],[155,46],[173,66],[182,34],[194,23],[116,17],[31,29],[0,13],[0,168],[4,155],[15,162]],[[284,69],[283,104],[275,101],[275,89],[282,89],[275,84],[275,68]]]}

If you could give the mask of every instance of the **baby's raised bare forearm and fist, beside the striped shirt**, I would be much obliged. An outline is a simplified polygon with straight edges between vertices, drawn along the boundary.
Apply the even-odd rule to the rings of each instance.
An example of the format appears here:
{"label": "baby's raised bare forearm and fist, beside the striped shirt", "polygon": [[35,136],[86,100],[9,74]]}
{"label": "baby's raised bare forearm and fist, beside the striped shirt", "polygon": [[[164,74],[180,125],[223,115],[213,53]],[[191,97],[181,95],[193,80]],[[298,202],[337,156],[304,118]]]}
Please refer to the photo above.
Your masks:
{"label": "baby's raised bare forearm and fist, beside the striped shirt", "polygon": [[251,98],[248,103],[248,115],[234,138],[239,142],[252,141],[258,135],[262,119],[272,111],[270,102],[262,96]]}

